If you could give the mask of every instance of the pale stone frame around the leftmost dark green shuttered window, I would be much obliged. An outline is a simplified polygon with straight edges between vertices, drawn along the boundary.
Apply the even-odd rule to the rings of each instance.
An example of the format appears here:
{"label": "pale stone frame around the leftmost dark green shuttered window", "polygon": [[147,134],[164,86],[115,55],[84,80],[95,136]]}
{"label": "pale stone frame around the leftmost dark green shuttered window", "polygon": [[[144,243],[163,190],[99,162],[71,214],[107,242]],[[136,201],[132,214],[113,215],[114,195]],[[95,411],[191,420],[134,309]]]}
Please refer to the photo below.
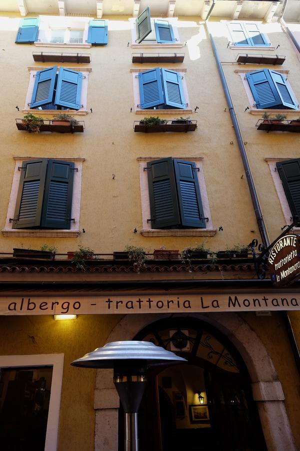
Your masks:
{"label": "pale stone frame around the leftmost dark green shuttered window", "polygon": [[[71,221],[70,229],[12,229],[12,221],[9,222],[9,218],[13,218],[16,198],[20,183],[21,171],[18,167],[22,166],[23,161],[35,160],[39,157],[25,157],[15,156],[14,173],[12,178],[7,215],[5,220],[4,229],[1,230],[4,237],[64,237],[75,238],[80,235],[79,219],[80,219],[80,199],[81,199],[81,179],[82,179],[82,165],[85,158],[69,158],[69,157],[52,157],[55,160],[71,161],[74,163],[74,167],[78,171],[74,170],[73,173],[73,193],[72,193],[72,208],[71,217],[75,218],[75,221]],[[41,157],[45,158],[45,156]]]}

